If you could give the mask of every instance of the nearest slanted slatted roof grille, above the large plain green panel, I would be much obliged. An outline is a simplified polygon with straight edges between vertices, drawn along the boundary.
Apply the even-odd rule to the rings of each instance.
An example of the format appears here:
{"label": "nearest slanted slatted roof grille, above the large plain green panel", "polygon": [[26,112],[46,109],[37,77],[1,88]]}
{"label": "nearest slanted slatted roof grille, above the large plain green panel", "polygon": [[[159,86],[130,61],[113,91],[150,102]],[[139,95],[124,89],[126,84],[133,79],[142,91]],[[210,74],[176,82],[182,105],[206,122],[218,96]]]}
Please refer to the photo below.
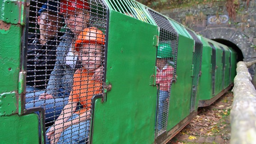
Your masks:
{"label": "nearest slanted slatted roof grille, above the large plain green panel", "polygon": [[136,1],[132,0],[109,0],[112,9],[115,11],[126,14],[130,17],[136,18],[146,23],[151,23],[148,16],[144,13],[142,8]]}

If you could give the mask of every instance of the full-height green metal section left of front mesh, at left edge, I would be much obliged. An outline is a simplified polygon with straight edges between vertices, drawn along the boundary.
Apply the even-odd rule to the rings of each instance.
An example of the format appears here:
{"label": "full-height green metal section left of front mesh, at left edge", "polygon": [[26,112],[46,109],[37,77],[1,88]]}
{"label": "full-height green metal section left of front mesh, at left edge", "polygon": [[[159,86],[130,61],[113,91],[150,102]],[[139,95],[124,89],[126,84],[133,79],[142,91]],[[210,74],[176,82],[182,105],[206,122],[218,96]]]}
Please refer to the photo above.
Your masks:
{"label": "full-height green metal section left of front mesh, at left edge", "polygon": [[0,1],[0,143],[39,144],[36,113],[18,115],[23,2]]}

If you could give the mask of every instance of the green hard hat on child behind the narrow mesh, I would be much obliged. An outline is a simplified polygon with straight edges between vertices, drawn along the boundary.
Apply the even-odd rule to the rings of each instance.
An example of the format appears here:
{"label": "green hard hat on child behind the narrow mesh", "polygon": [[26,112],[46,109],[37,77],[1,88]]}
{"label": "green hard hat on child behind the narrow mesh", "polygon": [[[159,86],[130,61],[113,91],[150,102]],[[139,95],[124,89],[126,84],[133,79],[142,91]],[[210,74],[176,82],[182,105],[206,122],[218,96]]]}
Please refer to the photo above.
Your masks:
{"label": "green hard hat on child behind the narrow mesh", "polygon": [[160,41],[157,48],[157,58],[173,57],[171,43],[169,41]]}

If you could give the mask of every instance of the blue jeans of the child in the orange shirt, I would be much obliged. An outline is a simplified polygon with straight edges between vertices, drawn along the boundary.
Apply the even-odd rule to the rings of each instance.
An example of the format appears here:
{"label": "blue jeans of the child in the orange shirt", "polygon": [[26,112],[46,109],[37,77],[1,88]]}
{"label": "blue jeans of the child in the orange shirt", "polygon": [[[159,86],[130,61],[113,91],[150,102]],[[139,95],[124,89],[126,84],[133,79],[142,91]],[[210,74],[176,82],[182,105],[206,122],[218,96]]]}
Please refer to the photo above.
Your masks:
{"label": "blue jeans of the child in the orange shirt", "polygon": [[[68,121],[72,121],[79,115],[73,113]],[[46,133],[50,130],[46,130]],[[66,130],[62,131],[59,141],[56,144],[84,144],[89,137],[90,120],[79,122],[77,125],[71,125]],[[46,135],[46,144],[50,144]]]}

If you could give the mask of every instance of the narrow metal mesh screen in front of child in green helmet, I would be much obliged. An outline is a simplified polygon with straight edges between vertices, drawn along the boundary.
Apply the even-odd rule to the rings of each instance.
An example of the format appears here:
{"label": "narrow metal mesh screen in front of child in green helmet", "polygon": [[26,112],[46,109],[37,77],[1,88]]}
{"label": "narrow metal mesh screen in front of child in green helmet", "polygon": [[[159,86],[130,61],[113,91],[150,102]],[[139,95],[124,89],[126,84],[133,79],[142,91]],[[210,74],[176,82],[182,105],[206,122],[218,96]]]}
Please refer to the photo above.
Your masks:
{"label": "narrow metal mesh screen in front of child in green helmet", "polygon": [[160,27],[159,45],[156,60],[156,83],[159,89],[156,136],[166,131],[169,115],[169,96],[171,84],[176,73],[178,34],[169,20],[148,9],[155,23]]}

